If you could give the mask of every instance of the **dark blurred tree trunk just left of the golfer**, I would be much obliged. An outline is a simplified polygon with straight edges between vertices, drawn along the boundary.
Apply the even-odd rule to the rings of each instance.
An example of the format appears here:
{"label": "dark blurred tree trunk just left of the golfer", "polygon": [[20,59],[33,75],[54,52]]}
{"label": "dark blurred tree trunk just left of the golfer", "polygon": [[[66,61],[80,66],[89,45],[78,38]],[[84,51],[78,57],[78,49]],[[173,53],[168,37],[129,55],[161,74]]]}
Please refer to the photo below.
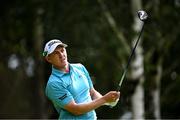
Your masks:
{"label": "dark blurred tree trunk just left of the golfer", "polygon": [[45,112],[46,99],[44,94],[44,65],[42,61],[42,48],[43,48],[43,24],[41,21],[42,9],[37,9],[37,14],[34,22],[34,50],[35,50],[35,112],[40,118],[47,118]]}

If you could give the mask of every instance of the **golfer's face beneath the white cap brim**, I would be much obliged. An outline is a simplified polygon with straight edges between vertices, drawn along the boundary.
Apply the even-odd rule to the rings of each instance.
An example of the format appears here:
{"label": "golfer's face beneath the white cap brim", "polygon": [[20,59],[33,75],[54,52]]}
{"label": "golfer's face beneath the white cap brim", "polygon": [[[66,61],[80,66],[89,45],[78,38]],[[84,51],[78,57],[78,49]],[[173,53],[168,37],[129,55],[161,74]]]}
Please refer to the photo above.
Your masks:
{"label": "golfer's face beneath the white cap brim", "polygon": [[62,46],[57,46],[54,52],[47,56],[46,60],[54,67],[64,69],[68,65],[66,49]]}

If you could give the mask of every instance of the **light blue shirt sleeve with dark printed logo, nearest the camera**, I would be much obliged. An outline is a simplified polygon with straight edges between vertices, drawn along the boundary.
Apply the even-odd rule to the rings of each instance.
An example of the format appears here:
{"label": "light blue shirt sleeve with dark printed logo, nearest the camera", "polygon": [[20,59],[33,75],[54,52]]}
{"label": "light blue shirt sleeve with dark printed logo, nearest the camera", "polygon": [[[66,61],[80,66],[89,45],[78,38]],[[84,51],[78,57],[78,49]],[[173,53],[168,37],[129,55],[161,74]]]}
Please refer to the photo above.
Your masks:
{"label": "light blue shirt sleeve with dark printed logo, nearest the camera", "polygon": [[64,108],[73,100],[71,93],[60,82],[51,82],[46,87],[46,95],[55,106]]}

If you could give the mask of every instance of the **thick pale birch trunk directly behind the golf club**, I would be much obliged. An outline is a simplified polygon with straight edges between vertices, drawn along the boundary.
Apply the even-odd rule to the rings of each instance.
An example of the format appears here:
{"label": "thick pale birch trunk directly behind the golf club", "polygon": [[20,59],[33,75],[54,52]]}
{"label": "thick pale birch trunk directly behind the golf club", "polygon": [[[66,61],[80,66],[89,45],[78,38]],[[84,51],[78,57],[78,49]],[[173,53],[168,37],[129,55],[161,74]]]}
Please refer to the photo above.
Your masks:
{"label": "thick pale birch trunk directly behind the golf club", "polygon": [[[133,29],[136,33],[139,33],[142,27],[142,22],[139,20],[137,16],[137,11],[141,9],[141,0],[131,0],[132,4],[132,13],[134,16],[134,24]],[[133,41],[137,40],[137,34],[134,37]],[[134,46],[134,45],[133,45]],[[143,49],[141,46],[141,42],[136,48],[135,51],[135,59],[132,62],[131,69],[131,78],[132,80],[139,80],[138,84],[135,86],[134,93],[131,98],[132,104],[132,118],[133,119],[144,119],[144,64],[143,64],[144,56]]]}

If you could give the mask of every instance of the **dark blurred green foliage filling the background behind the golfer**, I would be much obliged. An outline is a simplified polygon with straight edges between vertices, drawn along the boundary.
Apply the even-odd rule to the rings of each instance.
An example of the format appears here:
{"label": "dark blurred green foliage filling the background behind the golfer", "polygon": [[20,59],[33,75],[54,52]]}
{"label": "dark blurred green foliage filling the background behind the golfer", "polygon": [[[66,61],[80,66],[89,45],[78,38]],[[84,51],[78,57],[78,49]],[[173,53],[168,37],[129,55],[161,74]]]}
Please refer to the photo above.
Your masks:
{"label": "dark blurred green foliage filling the background behind the golfer", "polygon": [[[131,1],[104,0],[104,3],[130,46],[137,34],[132,29]],[[156,87],[153,76],[159,62],[163,68],[161,116],[180,118],[178,3],[179,0],[143,1],[143,8],[150,15],[142,41],[146,118],[153,118],[150,94]],[[57,118],[56,111],[44,95],[51,66],[40,57],[45,42],[53,38],[68,44],[69,61],[81,62],[87,67],[100,93],[116,89],[125,66],[123,60],[127,60],[129,55],[109,26],[97,0],[2,0],[0,118]],[[16,55],[19,63],[15,68],[8,67],[12,55]],[[33,64],[27,62],[28,58],[32,58]],[[32,75],[28,75],[28,67]],[[116,119],[130,110],[130,96],[136,84],[137,81],[125,80],[117,107],[97,109],[98,118]]]}

